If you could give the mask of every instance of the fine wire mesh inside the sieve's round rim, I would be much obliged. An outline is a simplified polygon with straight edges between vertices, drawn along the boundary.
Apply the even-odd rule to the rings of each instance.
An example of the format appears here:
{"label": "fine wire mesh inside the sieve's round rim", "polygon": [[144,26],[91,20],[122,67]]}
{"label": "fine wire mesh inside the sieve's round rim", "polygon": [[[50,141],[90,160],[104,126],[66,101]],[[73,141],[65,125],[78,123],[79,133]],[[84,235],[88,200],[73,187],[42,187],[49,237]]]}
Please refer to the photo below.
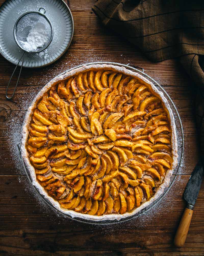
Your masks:
{"label": "fine wire mesh inside the sieve's round rim", "polygon": [[[29,45],[28,35],[33,29],[39,26],[46,31],[47,41],[42,47],[37,47],[36,49]],[[44,50],[49,44],[52,37],[52,28],[48,20],[41,14],[28,13],[22,16],[16,24],[15,36],[16,42],[21,49],[27,52],[39,52]]]}

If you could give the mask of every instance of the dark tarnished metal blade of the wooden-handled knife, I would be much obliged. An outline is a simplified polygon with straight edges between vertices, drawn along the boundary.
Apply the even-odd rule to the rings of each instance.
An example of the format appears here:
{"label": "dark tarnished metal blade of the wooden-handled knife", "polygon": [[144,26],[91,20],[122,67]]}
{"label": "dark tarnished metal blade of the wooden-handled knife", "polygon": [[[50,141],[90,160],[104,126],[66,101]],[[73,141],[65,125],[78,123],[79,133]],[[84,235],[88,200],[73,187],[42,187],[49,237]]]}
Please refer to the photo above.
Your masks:
{"label": "dark tarnished metal blade of the wooden-handled knife", "polygon": [[[194,206],[196,199],[198,197],[198,193],[200,190],[200,186],[202,184],[202,176],[203,176],[203,167],[201,160],[197,163],[194,168],[188,183],[186,185],[186,189],[184,191],[184,199],[187,201],[189,205]],[[188,207],[187,207],[188,208]]]}

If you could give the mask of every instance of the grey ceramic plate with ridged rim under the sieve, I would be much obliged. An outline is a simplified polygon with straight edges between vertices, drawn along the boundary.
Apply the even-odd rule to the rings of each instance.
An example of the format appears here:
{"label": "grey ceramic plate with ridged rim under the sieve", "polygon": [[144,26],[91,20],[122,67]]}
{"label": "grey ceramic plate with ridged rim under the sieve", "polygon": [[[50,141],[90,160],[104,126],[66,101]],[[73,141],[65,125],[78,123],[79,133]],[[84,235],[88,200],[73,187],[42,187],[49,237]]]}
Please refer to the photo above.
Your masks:
{"label": "grey ceramic plate with ridged rim under the sieve", "polygon": [[[68,49],[74,31],[73,17],[62,0],[7,0],[0,9],[0,53],[17,64],[23,51],[17,46],[13,29],[16,20],[26,12],[46,9],[46,16],[53,24],[54,36],[51,44],[41,54],[26,54],[23,67],[47,66],[59,59]],[[19,63],[19,66],[21,63]]]}

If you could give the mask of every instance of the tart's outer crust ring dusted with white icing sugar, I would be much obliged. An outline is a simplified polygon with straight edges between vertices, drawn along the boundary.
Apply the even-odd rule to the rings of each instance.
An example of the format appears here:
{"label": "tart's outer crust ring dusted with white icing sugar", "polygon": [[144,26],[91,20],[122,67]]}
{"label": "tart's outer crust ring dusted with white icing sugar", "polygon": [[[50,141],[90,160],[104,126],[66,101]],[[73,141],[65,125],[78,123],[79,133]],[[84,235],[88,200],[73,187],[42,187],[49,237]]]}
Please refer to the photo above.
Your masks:
{"label": "tart's outer crust ring dusted with white icing sugar", "polygon": [[[165,175],[165,178],[163,180],[163,183],[157,188],[157,191],[154,196],[152,196],[148,201],[144,202],[141,206],[138,208],[135,208],[132,212],[125,212],[124,214],[107,214],[107,215],[102,215],[102,216],[92,216],[92,215],[87,215],[87,214],[82,214],[78,213],[72,210],[65,209],[60,206],[59,202],[56,201],[54,198],[50,197],[47,194],[47,191],[37,182],[36,180],[36,174],[35,174],[35,169],[31,165],[30,160],[29,160],[29,155],[26,150],[26,145],[27,145],[27,139],[28,139],[28,127],[32,118],[33,111],[35,110],[37,103],[39,100],[42,98],[43,94],[47,92],[52,86],[57,84],[61,80],[65,80],[79,72],[86,71],[86,70],[97,70],[97,69],[107,69],[107,70],[115,70],[118,72],[121,72],[126,75],[130,75],[135,78],[139,78],[143,81],[143,83],[149,88],[150,91],[154,92],[154,94],[157,95],[163,102],[165,108],[168,110],[169,114],[169,120],[170,120],[170,125],[171,125],[171,145],[172,145],[172,158],[173,158],[173,163],[172,163],[172,169],[168,169]],[[22,130],[22,144],[21,144],[21,154],[23,157],[23,160],[25,162],[25,165],[30,172],[30,176],[32,178],[32,184],[39,190],[39,192],[47,199],[50,201],[50,203],[59,211],[61,211],[64,214],[67,214],[71,216],[72,218],[81,218],[85,220],[92,220],[92,221],[102,221],[102,220],[120,220],[123,218],[130,217],[132,215],[137,214],[139,211],[147,207],[148,205],[152,204],[155,200],[157,200],[161,194],[163,193],[164,189],[169,186],[170,178],[172,176],[173,170],[177,165],[177,137],[176,137],[176,128],[175,128],[175,122],[174,122],[174,116],[172,113],[172,110],[169,106],[169,103],[167,99],[164,97],[163,93],[160,92],[154,84],[152,84],[150,81],[148,81],[146,78],[141,76],[140,74],[133,72],[131,70],[128,70],[124,67],[119,67],[119,66],[114,66],[114,65],[107,65],[107,64],[96,64],[96,65],[84,65],[80,68],[73,69],[69,72],[66,72],[53,80],[51,80],[49,83],[45,85],[45,87],[37,94],[35,97],[33,103],[28,109],[28,112],[25,115],[25,120],[23,123],[23,130]]]}

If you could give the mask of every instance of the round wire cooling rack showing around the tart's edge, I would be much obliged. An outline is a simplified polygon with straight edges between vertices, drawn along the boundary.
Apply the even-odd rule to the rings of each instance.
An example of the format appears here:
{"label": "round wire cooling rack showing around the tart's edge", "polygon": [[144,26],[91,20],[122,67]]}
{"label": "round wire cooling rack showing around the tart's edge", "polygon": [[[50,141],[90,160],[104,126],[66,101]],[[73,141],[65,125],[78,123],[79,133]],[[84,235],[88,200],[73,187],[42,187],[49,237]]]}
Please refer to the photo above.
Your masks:
{"label": "round wire cooling rack showing around the tart's edge", "polygon": [[[175,181],[175,179],[176,179],[176,177],[178,175],[179,169],[180,169],[181,164],[182,164],[183,153],[184,153],[184,133],[183,133],[183,126],[182,126],[182,123],[181,123],[181,118],[179,116],[179,112],[177,111],[176,106],[174,105],[174,103],[173,103],[172,99],[170,98],[169,94],[162,88],[162,86],[160,86],[160,84],[158,82],[156,82],[148,74],[144,73],[144,69],[141,68],[141,67],[134,66],[134,65],[130,66],[130,64],[125,65],[125,64],[116,63],[116,62],[91,62],[91,63],[82,64],[82,65],[79,65],[77,67],[73,67],[71,69],[68,69],[65,72],[59,74],[57,77],[65,74],[66,72],[69,72],[69,71],[71,71],[73,69],[80,68],[80,67],[82,67],[84,65],[89,66],[89,65],[93,65],[93,64],[111,64],[111,65],[115,65],[115,66],[125,67],[126,69],[132,70],[133,72],[135,72],[135,71],[138,72],[139,74],[141,74],[142,76],[144,76],[148,80],[150,80],[157,87],[157,89],[159,91],[162,91],[164,93],[166,99],[169,102],[169,105],[170,105],[170,107],[172,109],[172,112],[173,112],[173,115],[174,115],[174,119],[175,119],[176,135],[177,135],[177,141],[178,141],[178,155],[179,155],[178,156],[178,164],[177,164],[176,168],[174,169],[174,172],[173,172],[173,175],[171,177],[171,181],[170,181],[169,187],[165,188],[163,194],[161,194],[161,196],[157,200],[152,202],[152,204],[148,205],[147,207],[143,208],[141,211],[137,212],[135,215],[130,216],[130,217],[126,217],[126,218],[123,218],[123,219],[120,219],[120,220],[103,220],[103,221],[93,221],[93,220],[84,220],[84,219],[81,219],[81,218],[72,218],[69,215],[66,215],[66,214],[58,211],[46,198],[44,198],[40,194],[39,190],[35,186],[33,186],[35,188],[35,190],[37,191],[37,193],[44,199],[44,201],[50,207],[52,207],[52,209],[54,211],[56,211],[57,214],[60,214],[60,216],[65,217],[65,218],[69,218],[69,219],[72,219],[72,220],[74,219],[74,220],[77,220],[79,222],[83,222],[83,223],[87,223],[87,224],[109,225],[109,224],[114,224],[114,223],[119,223],[119,222],[122,223],[122,222],[131,220],[131,219],[133,219],[135,217],[138,217],[138,216],[141,216],[141,215],[145,214],[150,208],[152,208],[155,204],[157,204],[168,193],[168,191],[171,189],[171,186],[174,183],[174,181]],[[22,161],[25,173],[28,176],[28,179],[29,179],[30,183],[32,184],[32,178],[30,176],[30,173],[27,170],[23,159],[21,158],[20,144],[18,144],[17,146],[18,146],[18,150],[19,150],[19,159]]]}

